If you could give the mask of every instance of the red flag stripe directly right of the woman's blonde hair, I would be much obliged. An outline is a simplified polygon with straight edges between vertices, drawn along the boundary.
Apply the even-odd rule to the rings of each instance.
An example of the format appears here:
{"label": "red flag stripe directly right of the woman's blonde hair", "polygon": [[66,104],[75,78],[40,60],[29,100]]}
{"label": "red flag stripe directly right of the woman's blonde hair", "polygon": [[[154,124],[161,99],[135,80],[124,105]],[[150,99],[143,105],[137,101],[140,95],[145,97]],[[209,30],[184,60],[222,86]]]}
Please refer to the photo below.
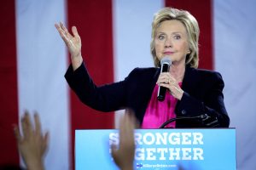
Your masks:
{"label": "red flag stripe directly right of the woman's blonde hair", "polygon": [[211,0],[166,0],[166,7],[188,10],[195,16],[200,27],[199,67],[213,69],[212,56],[212,1]]}

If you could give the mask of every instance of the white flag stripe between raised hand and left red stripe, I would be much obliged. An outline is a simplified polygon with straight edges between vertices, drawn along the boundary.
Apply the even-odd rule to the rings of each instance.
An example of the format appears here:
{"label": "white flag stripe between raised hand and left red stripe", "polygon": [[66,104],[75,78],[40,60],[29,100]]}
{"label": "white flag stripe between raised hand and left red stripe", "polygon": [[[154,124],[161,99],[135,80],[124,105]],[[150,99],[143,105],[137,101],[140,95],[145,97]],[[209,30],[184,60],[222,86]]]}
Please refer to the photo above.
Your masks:
{"label": "white flag stripe between raised hand and left red stripe", "polygon": [[16,0],[19,114],[38,111],[49,131],[46,169],[69,169],[67,54],[55,22],[65,21],[64,0]]}

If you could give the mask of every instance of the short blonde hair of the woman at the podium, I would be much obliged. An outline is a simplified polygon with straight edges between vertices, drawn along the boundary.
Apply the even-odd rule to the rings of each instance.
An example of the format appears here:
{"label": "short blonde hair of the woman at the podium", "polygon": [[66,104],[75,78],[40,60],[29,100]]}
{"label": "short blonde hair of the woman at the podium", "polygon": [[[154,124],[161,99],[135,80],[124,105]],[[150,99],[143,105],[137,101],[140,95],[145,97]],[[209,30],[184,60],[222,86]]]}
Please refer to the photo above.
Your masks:
{"label": "short blonde hair of the woman at the podium", "polygon": [[183,23],[189,40],[189,54],[186,56],[186,65],[191,67],[198,67],[198,39],[199,39],[199,26],[195,17],[188,11],[179,10],[177,8],[162,8],[156,14],[154,14],[154,20],[152,22],[150,51],[154,59],[154,66],[160,66],[160,60],[157,59],[154,48],[154,39],[156,36],[156,29],[163,21],[166,20],[178,20]]}

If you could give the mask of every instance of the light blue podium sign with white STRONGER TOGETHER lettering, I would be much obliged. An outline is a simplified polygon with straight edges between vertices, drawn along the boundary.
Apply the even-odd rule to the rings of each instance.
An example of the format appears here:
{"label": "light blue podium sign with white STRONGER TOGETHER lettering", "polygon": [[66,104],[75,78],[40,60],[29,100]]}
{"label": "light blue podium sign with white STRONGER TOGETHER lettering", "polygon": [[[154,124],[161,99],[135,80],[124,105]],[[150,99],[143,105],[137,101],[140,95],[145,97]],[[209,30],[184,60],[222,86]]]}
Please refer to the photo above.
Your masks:
{"label": "light blue podium sign with white STRONGER TOGETHER lettering", "polygon": [[[137,129],[134,169],[236,170],[236,129]],[[75,169],[119,169],[110,145],[119,132],[76,130]]]}

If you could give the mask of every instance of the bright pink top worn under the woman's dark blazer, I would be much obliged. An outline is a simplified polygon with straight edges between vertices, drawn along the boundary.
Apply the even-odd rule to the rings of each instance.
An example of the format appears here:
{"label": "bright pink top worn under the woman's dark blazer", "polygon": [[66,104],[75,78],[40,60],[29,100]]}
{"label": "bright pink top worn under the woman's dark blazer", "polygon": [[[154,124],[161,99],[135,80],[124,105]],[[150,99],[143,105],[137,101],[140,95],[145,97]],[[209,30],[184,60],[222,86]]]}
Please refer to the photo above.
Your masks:
{"label": "bright pink top worn under the woman's dark blazer", "polygon": [[[178,85],[181,87],[182,82],[179,82]],[[177,99],[166,90],[166,99],[164,101],[158,101],[158,87],[157,84],[154,87],[153,94],[143,118],[142,128],[159,128],[164,122],[176,117],[174,110]],[[176,122],[171,122],[166,125],[166,127],[174,128],[176,127]]]}

